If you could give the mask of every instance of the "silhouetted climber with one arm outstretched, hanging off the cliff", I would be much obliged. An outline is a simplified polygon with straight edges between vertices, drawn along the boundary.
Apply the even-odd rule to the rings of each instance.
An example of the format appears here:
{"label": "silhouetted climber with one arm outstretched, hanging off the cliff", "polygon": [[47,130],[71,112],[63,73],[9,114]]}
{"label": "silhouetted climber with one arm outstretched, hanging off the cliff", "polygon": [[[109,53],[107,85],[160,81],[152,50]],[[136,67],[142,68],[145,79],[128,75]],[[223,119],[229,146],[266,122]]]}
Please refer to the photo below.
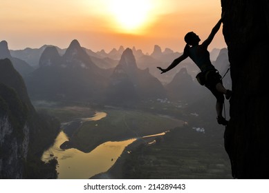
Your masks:
{"label": "silhouetted climber with one arm outstretched, hanging off the cliff", "polygon": [[183,54],[174,59],[174,61],[166,68],[157,67],[161,70],[161,74],[175,68],[178,63],[190,57],[194,63],[198,66],[201,70],[200,73],[197,74],[196,79],[201,85],[205,85],[212,94],[216,97],[216,114],[217,114],[217,121],[221,125],[227,125],[228,121],[222,116],[223,111],[223,103],[224,103],[224,94],[226,99],[230,99],[232,95],[231,90],[226,90],[223,86],[221,75],[219,74],[218,70],[214,68],[210,61],[210,52],[207,51],[208,45],[212,42],[216,32],[219,31],[221,28],[222,19],[216,23],[216,26],[212,29],[209,37],[203,41],[202,44],[199,45],[201,39],[196,35],[194,32],[188,32],[185,35],[185,42],[187,43],[184,48]]}

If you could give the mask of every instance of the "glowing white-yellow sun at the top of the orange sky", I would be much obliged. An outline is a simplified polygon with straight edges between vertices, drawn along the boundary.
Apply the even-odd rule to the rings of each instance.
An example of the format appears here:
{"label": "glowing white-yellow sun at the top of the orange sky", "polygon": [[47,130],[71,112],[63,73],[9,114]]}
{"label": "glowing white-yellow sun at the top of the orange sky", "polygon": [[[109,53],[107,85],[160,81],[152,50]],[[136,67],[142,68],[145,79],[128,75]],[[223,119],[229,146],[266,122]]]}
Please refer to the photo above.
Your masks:
{"label": "glowing white-yellow sun at the top of the orange sky", "polygon": [[109,9],[120,32],[138,34],[151,21],[151,0],[114,0]]}

